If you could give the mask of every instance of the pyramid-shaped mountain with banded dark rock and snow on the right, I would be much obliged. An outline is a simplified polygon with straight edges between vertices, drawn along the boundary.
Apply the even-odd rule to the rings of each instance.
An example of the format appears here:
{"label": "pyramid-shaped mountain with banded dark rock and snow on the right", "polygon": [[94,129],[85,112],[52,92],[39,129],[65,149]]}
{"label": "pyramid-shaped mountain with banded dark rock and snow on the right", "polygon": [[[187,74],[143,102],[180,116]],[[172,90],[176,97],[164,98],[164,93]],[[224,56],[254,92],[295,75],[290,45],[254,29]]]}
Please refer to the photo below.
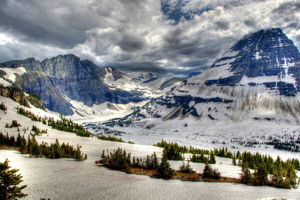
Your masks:
{"label": "pyramid-shaped mountain with banded dark rock and snow on the right", "polygon": [[133,115],[163,120],[271,120],[299,123],[300,53],[279,28],[232,45],[209,69],[172,87]]}

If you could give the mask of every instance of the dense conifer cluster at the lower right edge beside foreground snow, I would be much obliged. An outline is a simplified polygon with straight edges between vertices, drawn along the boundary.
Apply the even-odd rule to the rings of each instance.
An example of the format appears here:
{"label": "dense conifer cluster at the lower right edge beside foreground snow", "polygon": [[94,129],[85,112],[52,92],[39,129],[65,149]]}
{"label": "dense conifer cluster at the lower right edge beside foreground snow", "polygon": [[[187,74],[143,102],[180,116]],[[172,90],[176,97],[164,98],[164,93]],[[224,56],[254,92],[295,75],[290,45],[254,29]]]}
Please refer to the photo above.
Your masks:
{"label": "dense conifer cluster at the lower right edge beside foreground snow", "polygon": [[[273,160],[271,156],[258,152],[254,154],[250,152],[237,153],[235,157],[238,159],[237,164],[242,166],[240,180],[244,184],[269,185],[281,188],[299,185],[295,173],[295,169],[299,170],[300,168],[298,159],[283,161],[277,156],[276,160]],[[254,169],[254,172],[250,173],[249,168]]]}

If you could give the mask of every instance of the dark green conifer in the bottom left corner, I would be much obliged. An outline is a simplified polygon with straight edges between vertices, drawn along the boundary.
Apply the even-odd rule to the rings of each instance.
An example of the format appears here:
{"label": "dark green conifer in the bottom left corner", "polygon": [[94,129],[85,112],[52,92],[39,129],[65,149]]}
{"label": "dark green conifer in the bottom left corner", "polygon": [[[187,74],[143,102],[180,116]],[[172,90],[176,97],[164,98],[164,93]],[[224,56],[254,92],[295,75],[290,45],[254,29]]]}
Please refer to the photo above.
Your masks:
{"label": "dark green conifer in the bottom left corner", "polygon": [[16,186],[23,180],[20,174],[15,174],[19,169],[10,169],[8,159],[0,162],[0,199],[17,199],[26,196],[22,189],[27,185]]}

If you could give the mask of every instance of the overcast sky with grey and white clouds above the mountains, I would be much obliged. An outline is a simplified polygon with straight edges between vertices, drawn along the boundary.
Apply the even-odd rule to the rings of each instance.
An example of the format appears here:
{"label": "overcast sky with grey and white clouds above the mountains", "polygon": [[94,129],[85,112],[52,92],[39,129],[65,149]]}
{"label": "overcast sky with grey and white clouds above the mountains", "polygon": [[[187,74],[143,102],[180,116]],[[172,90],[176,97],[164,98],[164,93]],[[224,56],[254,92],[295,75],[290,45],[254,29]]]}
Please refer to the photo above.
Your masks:
{"label": "overcast sky with grey and white clouds above the mountains", "polygon": [[73,53],[123,72],[203,71],[245,34],[300,47],[299,0],[0,0],[0,62]]}

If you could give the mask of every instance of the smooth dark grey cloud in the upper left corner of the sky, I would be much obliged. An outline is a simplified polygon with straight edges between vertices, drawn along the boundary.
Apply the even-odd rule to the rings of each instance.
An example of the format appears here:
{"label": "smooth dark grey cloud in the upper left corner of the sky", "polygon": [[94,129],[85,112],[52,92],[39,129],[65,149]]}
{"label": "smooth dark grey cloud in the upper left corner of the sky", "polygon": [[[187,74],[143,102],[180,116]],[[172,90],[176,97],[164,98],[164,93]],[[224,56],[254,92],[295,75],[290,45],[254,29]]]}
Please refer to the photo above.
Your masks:
{"label": "smooth dark grey cloud in the upper left corner of the sky", "polygon": [[[0,6],[0,27],[23,41],[71,48],[84,41],[92,20],[77,16],[76,7],[60,7],[53,1],[7,0]],[[65,14],[69,13],[69,14]]]}

